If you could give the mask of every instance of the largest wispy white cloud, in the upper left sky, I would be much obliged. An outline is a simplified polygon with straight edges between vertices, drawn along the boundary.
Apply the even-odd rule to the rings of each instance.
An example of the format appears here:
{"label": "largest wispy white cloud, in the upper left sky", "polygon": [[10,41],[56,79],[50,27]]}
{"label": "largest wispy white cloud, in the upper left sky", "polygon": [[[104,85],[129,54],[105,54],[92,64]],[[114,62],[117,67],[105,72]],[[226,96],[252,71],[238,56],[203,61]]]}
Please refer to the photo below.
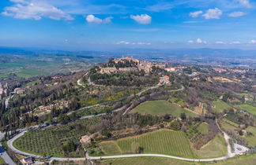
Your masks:
{"label": "largest wispy white cloud, in the upper left sky", "polygon": [[15,4],[8,6],[2,12],[4,16],[13,16],[17,19],[41,20],[43,17],[52,20],[73,20],[73,17],[50,3],[38,0],[11,0]]}

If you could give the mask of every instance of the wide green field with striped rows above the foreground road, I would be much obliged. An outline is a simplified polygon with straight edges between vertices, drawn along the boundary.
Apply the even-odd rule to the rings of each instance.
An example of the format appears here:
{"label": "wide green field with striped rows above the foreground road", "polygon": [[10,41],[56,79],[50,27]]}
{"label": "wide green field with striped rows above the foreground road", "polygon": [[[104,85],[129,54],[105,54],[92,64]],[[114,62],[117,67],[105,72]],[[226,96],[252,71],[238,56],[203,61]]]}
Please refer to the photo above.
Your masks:
{"label": "wide green field with striped rows above the foreground road", "polygon": [[100,146],[106,155],[134,153],[138,147],[142,147],[144,153],[194,157],[186,134],[165,129],[117,141],[102,142]]}

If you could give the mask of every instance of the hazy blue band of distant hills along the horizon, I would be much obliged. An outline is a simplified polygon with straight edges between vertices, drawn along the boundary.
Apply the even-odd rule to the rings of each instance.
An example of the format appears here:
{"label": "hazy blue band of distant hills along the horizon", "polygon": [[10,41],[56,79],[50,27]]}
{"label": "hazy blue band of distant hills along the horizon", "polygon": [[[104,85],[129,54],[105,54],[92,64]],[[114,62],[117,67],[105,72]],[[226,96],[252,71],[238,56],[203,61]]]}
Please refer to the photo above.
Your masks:
{"label": "hazy blue band of distant hills along the horizon", "polygon": [[1,54],[30,54],[30,55],[77,55],[88,57],[120,57],[120,56],[137,56],[137,57],[255,57],[256,49],[115,49],[112,51],[65,51],[52,49],[30,49],[30,48],[9,48],[0,47]]}

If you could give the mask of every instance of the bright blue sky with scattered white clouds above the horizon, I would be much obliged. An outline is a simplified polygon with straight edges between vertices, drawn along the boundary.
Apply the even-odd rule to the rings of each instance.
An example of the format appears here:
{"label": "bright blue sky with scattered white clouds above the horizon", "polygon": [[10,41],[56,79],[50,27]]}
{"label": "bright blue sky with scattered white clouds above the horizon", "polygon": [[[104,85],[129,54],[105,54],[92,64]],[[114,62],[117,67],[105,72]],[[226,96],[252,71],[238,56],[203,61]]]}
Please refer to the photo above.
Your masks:
{"label": "bright blue sky with scattered white clouds above the horizon", "polygon": [[0,0],[0,46],[256,49],[255,0]]}

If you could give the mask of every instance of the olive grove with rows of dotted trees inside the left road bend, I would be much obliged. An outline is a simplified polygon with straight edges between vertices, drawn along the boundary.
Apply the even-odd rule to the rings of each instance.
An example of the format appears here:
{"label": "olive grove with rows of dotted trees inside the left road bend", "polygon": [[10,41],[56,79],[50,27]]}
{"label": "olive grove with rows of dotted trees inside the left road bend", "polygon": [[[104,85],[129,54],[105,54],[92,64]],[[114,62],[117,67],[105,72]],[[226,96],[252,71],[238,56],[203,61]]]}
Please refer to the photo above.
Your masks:
{"label": "olive grove with rows of dotted trees inside the left road bend", "polygon": [[[24,152],[40,156],[64,157],[62,144],[74,141],[79,144],[81,136],[85,135],[86,127],[96,123],[97,119],[82,119],[58,127],[45,130],[28,131],[24,136],[14,141],[13,145]],[[73,156],[80,156],[74,154]]]}

